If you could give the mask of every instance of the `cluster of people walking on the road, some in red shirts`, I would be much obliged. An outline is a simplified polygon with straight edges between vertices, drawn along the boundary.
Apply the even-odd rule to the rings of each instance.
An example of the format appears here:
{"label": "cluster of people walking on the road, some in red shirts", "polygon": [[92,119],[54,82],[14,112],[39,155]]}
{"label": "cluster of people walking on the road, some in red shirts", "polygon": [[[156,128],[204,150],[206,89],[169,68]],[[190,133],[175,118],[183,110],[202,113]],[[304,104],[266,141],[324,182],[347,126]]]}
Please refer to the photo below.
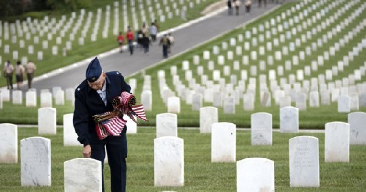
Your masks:
{"label": "cluster of people walking on the road, some in red shirts", "polygon": [[[130,55],[134,54],[135,49],[134,42],[136,42],[137,49],[143,50],[144,53],[148,53],[150,46],[152,46],[157,41],[156,38],[158,32],[159,32],[159,25],[157,23],[157,20],[151,23],[150,26],[147,26],[146,23],[144,22],[142,24],[141,29],[137,30],[135,33],[131,29],[131,27],[128,26],[126,37],[123,35],[123,32],[119,32],[119,35],[117,37],[120,53],[123,53],[123,46],[127,43]],[[125,39],[127,39],[127,42],[125,41]],[[169,53],[172,52],[171,47],[174,44],[174,42],[175,40],[172,33],[164,34],[164,36],[158,42],[158,45],[162,47],[164,58],[167,58]]]}

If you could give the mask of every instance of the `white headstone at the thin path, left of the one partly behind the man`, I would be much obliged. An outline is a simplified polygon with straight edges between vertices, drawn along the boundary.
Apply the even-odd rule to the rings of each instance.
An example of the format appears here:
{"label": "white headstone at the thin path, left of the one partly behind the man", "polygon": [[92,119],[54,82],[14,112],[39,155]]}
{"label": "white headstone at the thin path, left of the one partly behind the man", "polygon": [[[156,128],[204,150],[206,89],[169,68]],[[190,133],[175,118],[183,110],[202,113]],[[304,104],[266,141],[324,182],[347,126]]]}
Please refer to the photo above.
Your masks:
{"label": "white headstone at the thin path, left of the one partly behind the man", "polygon": [[38,109],[38,134],[56,133],[56,109],[50,107]]}

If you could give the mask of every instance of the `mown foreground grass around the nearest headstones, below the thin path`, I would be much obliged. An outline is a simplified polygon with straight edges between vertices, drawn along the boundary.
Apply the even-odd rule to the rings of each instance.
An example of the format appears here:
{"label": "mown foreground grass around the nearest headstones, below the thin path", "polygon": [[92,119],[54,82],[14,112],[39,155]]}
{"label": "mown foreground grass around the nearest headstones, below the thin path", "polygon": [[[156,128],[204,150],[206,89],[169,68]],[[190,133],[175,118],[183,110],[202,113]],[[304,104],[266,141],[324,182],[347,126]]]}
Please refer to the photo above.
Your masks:
{"label": "mown foreground grass around the nearest headstones, below the thin path", "polygon": [[[320,188],[290,188],[288,140],[300,135],[319,138]],[[20,140],[38,136],[37,128],[18,129],[18,163],[0,164],[0,191],[60,192],[64,191],[63,163],[82,157],[81,147],[63,146],[63,130],[57,135],[40,135],[51,139],[52,187],[20,186]],[[184,139],[184,187],[154,187],[153,139],[156,129],[139,128],[137,135],[127,135],[127,191],[130,192],[234,192],[236,163],[211,163],[211,136],[198,129],[178,129]],[[350,147],[349,163],[324,162],[324,133],[273,133],[273,146],[251,146],[250,132],[236,133],[236,161],[263,157],[275,161],[276,191],[279,192],[364,192],[366,188],[366,148]],[[110,189],[109,167],[105,165],[106,192]]]}

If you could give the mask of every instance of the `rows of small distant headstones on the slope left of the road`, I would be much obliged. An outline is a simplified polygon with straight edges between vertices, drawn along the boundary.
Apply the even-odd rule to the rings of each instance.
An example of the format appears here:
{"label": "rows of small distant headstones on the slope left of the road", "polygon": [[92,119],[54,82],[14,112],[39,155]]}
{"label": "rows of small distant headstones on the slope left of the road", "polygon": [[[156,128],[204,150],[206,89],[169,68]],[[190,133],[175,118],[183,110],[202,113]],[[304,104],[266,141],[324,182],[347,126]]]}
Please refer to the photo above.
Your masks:
{"label": "rows of small distant headstones on the slope left of the road", "polygon": [[[160,15],[160,22],[164,22],[165,21],[165,16],[162,15],[163,14],[163,11],[160,10],[160,4],[155,2],[156,3],[156,7],[158,9],[158,15]],[[182,3],[182,2],[181,2]],[[200,3],[200,0],[197,0],[196,1],[197,4]],[[194,7],[194,3],[193,2],[190,2],[190,8]],[[114,29],[113,29],[113,34],[114,35],[117,35],[118,33],[118,23],[119,23],[119,9],[118,9],[118,5],[119,5],[119,2],[118,1],[115,1],[115,15],[114,15],[114,18],[116,19],[115,20],[115,26],[114,26]],[[176,9],[176,15],[179,15],[179,12],[180,10],[177,8],[177,4],[176,3],[173,3],[172,4],[173,7],[175,7]],[[143,11],[143,4],[142,2],[140,3],[140,6],[141,8],[141,16],[142,16],[142,20],[146,20],[146,16],[145,16],[145,12]],[[153,7],[149,7],[149,12],[151,12],[152,14],[152,18],[151,18],[151,21],[153,22],[155,20],[155,16],[154,16],[154,13],[153,13]],[[105,26],[104,26],[104,29],[103,30],[103,38],[107,38],[108,37],[108,29],[109,29],[109,20],[110,20],[110,10],[111,10],[111,6],[110,5],[107,5],[106,6],[106,17],[105,17]],[[124,19],[125,19],[125,22],[124,24],[126,25],[126,29],[127,29],[127,26],[128,26],[128,17],[127,17],[127,5],[124,3],[124,6],[123,6],[123,10],[124,10]],[[132,15],[134,16],[132,18],[132,20],[134,21],[134,28],[135,29],[138,29],[139,25],[138,25],[138,22],[137,22],[137,18],[136,18],[136,14],[135,14],[135,7],[131,7],[131,10],[132,10]],[[182,10],[187,10],[187,7],[184,5]],[[168,18],[171,19],[172,18],[172,13],[169,12],[169,6],[166,6],[165,8],[165,11],[168,12]],[[98,9],[97,11],[97,19],[96,19],[96,22],[94,23],[94,33],[91,34],[91,40],[92,41],[96,41],[96,37],[97,37],[97,32],[98,32],[98,27],[100,25],[100,20],[101,20],[101,9]],[[66,49],[67,50],[70,50],[71,49],[71,42],[74,41],[75,39],[75,34],[77,33],[79,27],[81,26],[82,24],[82,21],[83,21],[83,18],[85,16],[85,10],[81,10],[80,11],[80,15],[79,15],[79,19],[75,25],[75,27],[73,28],[72,30],[72,33],[70,33],[69,35],[69,39],[70,41],[67,41],[66,42]],[[89,15],[88,15],[88,18],[87,18],[87,22],[86,22],[86,25],[84,25],[84,28],[83,28],[83,32],[82,32],[82,36],[81,38],[79,39],[79,45],[83,45],[84,43],[84,37],[89,29],[89,26],[90,26],[90,20],[91,20],[91,17],[93,16],[93,13],[92,12],[89,12]],[[76,18],[76,13],[73,12],[72,14],[72,17],[70,18],[69,22],[67,23],[67,25],[64,25],[63,29],[60,31],[60,37],[57,37],[56,39],[56,44],[61,44],[61,38],[65,36],[65,33],[68,31],[68,29],[70,29],[71,25],[73,24],[74,22],[74,18]],[[48,22],[48,16],[45,17],[44,20],[42,20],[41,24],[43,25],[46,25],[46,23],[49,23]],[[43,37],[44,33],[47,33],[49,31],[49,29],[52,29],[52,33],[48,33],[47,34],[47,39],[49,41],[52,40],[52,36],[53,34],[56,34],[57,31],[60,29],[61,26],[63,26],[63,22],[66,20],[66,16],[63,17],[63,19],[60,20],[60,22],[55,26],[55,27],[52,27],[52,24],[55,25],[56,24],[56,20],[54,18],[52,18],[52,22],[49,23],[49,25],[43,27],[44,30],[42,30],[42,26],[41,25],[38,25],[38,20],[35,20],[34,22],[36,23],[35,25],[37,25],[37,28],[39,33],[40,33],[40,36]],[[29,24],[32,24],[30,25],[30,27],[32,28],[33,27],[33,23],[31,22],[31,19],[30,18],[27,18],[27,21]],[[24,31],[27,32],[28,31],[28,26],[26,25],[27,22],[23,22],[23,27],[24,27]],[[12,34],[14,34],[11,38],[11,43],[12,44],[16,44],[16,39],[17,39],[17,36],[15,35],[15,26],[14,24],[10,24],[11,26],[11,31],[14,32]],[[20,37],[23,36],[23,30],[22,30],[22,26],[20,25],[20,21],[18,20],[16,22],[16,26],[17,26],[17,29],[18,29],[18,34]],[[32,30],[32,31],[36,31],[36,30]],[[1,35],[1,33],[0,33]],[[30,36],[31,34],[30,33],[26,33],[26,39],[29,40],[30,39]],[[4,23],[4,40],[7,40],[9,39],[9,31],[8,31],[8,23],[5,22]],[[1,42],[1,41],[0,41]],[[35,36],[34,37],[34,44],[38,44],[39,42],[39,37],[38,36]],[[0,43],[0,46],[1,46],[1,43]],[[24,48],[25,47],[25,41],[24,39],[20,39],[19,41],[19,46],[20,48]],[[48,41],[47,40],[44,40],[43,41],[43,49],[47,49],[48,48]],[[33,46],[29,46],[28,48],[29,50],[29,54],[33,54]],[[4,53],[9,53],[10,52],[10,46],[9,45],[4,45]],[[41,54],[41,52],[39,52],[39,54]],[[52,54],[56,54],[57,55],[57,46],[53,46],[52,47]],[[13,59],[18,59],[18,51],[15,50],[13,51]]]}

